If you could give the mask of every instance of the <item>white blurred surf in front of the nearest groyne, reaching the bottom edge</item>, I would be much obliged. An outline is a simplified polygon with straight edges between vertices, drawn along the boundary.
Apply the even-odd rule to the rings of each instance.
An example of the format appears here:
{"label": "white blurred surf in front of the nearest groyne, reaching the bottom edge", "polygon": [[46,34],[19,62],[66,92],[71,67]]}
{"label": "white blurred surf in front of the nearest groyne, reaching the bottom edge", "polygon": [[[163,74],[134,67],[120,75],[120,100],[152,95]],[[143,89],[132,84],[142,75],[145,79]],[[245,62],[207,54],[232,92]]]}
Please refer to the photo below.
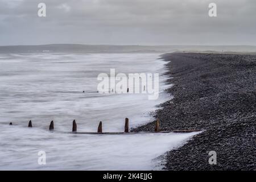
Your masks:
{"label": "white blurred surf in front of the nearest groyne, reaching the bottom edge", "polygon": [[[76,135],[20,126],[1,126],[1,170],[152,170],[166,151],[194,133]],[[38,152],[46,152],[46,165]]]}

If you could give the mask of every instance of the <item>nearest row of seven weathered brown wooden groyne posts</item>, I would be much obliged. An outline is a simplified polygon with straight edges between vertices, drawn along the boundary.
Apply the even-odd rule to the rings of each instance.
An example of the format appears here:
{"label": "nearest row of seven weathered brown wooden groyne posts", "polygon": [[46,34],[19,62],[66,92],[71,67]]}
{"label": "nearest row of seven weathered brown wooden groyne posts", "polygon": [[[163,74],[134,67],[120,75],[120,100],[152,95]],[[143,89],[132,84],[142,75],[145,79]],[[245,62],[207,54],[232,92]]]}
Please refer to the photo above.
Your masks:
{"label": "nearest row of seven weathered brown wooden groyne posts", "polygon": [[[13,125],[12,122],[10,122],[10,125]],[[28,122],[28,127],[32,127],[32,121],[30,120]],[[54,130],[54,122],[51,121],[50,125],[49,125],[49,130],[52,131]],[[156,119],[155,121],[155,132],[159,132],[159,119]],[[73,121],[73,126],[72,126],[72,132],[76,133],[77,132],[77,124],[76,124],[76,120]],[[100,121],[100,123],[98,124],[98,130],[97,133],[102,133],[102,121]],[[129,119],[125,118],[125,131],[124,133],[129,133]]]}

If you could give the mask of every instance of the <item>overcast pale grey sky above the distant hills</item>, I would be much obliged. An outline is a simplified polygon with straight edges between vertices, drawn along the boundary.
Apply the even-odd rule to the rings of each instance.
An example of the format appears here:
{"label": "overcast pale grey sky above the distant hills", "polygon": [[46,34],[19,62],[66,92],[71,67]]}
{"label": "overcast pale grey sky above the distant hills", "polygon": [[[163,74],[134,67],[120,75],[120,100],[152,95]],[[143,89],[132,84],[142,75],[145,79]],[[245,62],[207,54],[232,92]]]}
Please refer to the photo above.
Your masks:
{"label": "overcast pale grey sky above the distant hills", "polygon": [[51,43],[256,45],[256,1],[0,0],[0,45]]}

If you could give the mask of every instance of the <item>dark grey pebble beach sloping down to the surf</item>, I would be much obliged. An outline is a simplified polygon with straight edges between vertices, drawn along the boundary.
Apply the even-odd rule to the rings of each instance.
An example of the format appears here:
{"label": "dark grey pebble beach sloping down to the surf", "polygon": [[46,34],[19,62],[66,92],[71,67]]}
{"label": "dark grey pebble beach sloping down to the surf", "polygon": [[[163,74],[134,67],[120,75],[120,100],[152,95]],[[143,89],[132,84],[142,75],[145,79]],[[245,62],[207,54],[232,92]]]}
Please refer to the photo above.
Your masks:
{"label": "dark grey pebble beach sloping down to the surf", "polygon": [[[167,152],[167,170],[254,170],[256,55],[170,53],[173,100],[156,110],[162,130],[206,130]],[[154,122],[133,131],[154,131]],[[210,165],[209,151],[217,164]]]}

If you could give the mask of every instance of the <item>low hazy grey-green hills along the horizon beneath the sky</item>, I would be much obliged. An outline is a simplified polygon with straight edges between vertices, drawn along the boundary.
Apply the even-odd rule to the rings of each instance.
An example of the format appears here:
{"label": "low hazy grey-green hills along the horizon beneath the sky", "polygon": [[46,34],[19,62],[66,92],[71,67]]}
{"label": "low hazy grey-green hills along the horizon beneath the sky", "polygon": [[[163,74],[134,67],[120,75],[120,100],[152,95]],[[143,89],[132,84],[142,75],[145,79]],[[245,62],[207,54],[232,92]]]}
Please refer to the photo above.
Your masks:
{"label": "low hazy grey-green hills along the horizon beneath the sky", "polygon": [[197,52],[256,52],[256,46],[117,46],[86,44],[46,44],[35,46],[0,46],[0,53],[166,53],[176,51]]}

